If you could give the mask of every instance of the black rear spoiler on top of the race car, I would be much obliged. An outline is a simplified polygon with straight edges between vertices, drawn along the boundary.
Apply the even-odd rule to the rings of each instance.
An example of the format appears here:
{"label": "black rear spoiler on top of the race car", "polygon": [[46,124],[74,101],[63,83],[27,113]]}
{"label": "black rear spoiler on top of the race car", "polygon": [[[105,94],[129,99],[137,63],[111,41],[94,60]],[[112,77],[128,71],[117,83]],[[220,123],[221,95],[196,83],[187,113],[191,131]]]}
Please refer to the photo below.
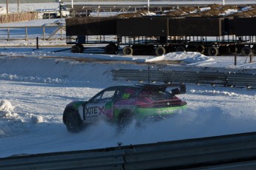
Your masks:
{"label": "black rear spoiler on top of the race car", "polygon": [[166,89],[168,87],[180,86],[180,89],[171,89],[171,93],[174,95],[185,94],[185,84],[135,84],[135,86],[142,86],[145,89]]}

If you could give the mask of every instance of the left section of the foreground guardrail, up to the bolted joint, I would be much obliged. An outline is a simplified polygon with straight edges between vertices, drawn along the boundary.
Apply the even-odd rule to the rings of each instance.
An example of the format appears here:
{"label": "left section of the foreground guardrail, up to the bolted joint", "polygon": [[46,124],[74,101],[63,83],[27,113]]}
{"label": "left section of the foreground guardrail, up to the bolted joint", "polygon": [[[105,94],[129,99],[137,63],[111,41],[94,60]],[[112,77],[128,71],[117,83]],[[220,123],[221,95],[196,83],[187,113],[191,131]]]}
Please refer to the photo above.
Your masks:
{"label": "left section of the foreground guardrail, up to the bolted joint", "polygon": [[0,169],[122,169],[122,150],[110,152],[59,152],[0,159]]}

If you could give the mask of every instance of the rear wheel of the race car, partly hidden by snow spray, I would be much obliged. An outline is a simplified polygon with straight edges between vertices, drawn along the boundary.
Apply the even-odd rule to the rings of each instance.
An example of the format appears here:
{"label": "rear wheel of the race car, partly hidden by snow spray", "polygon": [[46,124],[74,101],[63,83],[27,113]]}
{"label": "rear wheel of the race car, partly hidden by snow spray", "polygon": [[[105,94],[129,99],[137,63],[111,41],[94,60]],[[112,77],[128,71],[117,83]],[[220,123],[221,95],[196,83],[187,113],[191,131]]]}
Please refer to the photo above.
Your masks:
{"label": "rear wheel of the race car, partly hidden by snow spray", "polygon": [[117,119],[117,126],[120,130],[125,129],[129,125],[131,125],[133,120],[133,115],[131,114],[131,111],[128,109],[124,109],[119,113],[118,119]]}

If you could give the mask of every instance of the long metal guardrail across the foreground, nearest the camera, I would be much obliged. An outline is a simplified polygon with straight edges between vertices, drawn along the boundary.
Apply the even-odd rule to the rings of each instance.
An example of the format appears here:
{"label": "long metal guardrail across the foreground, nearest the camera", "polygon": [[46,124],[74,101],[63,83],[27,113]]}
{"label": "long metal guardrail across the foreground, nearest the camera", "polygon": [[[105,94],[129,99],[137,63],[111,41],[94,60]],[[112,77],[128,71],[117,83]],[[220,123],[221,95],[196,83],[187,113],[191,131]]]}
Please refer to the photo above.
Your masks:
{"label": "long metal guardrail across the foreground, nearest the camera", "polygon": [[0,169],[256,169],[256,132],[0,158]]}

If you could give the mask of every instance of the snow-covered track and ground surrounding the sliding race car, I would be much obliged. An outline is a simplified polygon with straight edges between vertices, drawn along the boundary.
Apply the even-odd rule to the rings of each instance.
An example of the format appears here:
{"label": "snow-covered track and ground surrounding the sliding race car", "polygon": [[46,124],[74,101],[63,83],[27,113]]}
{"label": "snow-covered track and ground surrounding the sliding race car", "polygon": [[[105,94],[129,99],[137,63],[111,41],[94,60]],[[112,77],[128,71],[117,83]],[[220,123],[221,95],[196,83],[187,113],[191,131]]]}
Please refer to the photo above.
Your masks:
{"label": "snow-covered track and ground surrounding the sliding race car", "polygon": [[[24,22],[22,24],[25,24]],[[11,42],[10,42],[11,43]],[[256,73],[249,58],[213,58],[197,52],[177,52],[165,56],[123,56],[54,52],[59,48],[0,48],[0,157],[82,149],[98,149],[139,143],[255,132],[256,89],[187,84],[179,95],[188,107],[171,118],[137,129],[132,124],[122,134],[104,121],[70,134],[62,123],[67,103],[88,100],[107,86],[133,84],[113,81],[111,69],[148,69],[143,64],[99,64],[70,58],[99,58],[137,61],[151,69],[208,72]],[[161,60],[183,60],[183,65],[153,64]],[[254,58],[255,61],[255,58]]]}

